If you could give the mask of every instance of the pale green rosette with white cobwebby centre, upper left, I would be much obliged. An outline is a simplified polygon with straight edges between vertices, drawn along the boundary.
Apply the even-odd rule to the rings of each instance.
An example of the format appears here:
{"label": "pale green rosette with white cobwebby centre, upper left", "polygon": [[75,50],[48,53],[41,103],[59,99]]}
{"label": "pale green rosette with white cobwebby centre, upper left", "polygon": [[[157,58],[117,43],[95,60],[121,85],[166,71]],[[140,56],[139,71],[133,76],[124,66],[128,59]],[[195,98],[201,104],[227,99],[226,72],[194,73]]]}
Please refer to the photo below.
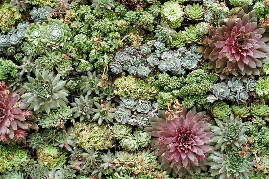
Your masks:
{"label": "pale green rosette with white cobwebby centre, upper left", "polygon": [[49,19],[48,23],[43,22],[40,31],[41,42],[52,47],[64,46],[72,36],[71,29],[59,19]]}

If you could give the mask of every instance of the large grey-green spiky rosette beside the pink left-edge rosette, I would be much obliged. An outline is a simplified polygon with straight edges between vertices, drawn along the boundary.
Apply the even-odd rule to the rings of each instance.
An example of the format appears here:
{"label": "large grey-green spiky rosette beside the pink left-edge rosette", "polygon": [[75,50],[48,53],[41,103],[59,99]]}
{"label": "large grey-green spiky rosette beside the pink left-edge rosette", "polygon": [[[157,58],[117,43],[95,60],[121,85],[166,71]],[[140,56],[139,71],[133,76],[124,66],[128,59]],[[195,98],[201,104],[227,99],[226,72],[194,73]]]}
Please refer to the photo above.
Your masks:
{"label": "large grey-green spiky rosette beside the pink left-edge rosette", "polygon": [[27,76],[29,83],[23,85],[27,93],[22,98],[30,103],[29,109],[49,114],[50,109],[66,106],[69,91],[65,89],[66,81],[60,80],[60,74],[54,77],[53,73],[48,74],[45,70],[40,73],[36,70],[35,77]]}

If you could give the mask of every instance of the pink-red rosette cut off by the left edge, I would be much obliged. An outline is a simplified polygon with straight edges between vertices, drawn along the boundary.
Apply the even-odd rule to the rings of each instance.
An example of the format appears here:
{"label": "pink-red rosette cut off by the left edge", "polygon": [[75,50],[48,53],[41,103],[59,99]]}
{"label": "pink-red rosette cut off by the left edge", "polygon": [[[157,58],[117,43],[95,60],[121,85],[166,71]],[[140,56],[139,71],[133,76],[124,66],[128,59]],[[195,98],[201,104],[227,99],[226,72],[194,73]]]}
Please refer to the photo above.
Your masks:
{"label": "pink-red rosette cut off by the left edge", "polygon": [[25,118],[27,113],[24,111],[28,104],[20,99],[17,92],[13,93],[10,87],[4,91],[0,93],[0,141],[23,139],[26,135],[24,130],[28,129]]}

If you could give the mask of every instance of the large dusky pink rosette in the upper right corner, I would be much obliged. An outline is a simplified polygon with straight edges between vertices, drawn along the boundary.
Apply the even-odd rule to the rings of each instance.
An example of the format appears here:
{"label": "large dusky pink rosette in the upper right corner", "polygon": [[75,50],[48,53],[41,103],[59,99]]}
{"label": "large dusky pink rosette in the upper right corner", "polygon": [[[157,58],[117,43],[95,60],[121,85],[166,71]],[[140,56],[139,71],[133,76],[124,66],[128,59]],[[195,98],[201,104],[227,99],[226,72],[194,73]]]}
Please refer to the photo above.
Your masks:
{"label": "large dusky pink rosette in the upper right corner", "polygon": [[268,32],[259,28],[255,12],[248,12],[246,6],[220,19],[219,25],[209,31],[212,41],[204,51],[204,57],[210,58],[208,67],[215,68],[221,79],[229,72],[242,81],[254,79],[262,63],[269,61]]}

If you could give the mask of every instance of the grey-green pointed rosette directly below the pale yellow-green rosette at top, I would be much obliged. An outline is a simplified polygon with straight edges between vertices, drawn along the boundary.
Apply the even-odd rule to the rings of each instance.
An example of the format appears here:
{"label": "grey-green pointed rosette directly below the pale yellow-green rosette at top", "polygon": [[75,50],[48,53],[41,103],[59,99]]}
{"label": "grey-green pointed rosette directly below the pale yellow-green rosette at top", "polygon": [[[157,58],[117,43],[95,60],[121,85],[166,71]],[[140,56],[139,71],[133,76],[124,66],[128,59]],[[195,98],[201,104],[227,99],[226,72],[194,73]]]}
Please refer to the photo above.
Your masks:
{"label": "grey-green pointed rosette directly below the pale yellow-green rosette at top", "polygon": [[172,41],[172,37],[176,36],[176,31],[171,29],[167,22],[160,22],[160,25],[157,25],[156,34],[154,37],[157,37],[158,41],[169,43]]}

